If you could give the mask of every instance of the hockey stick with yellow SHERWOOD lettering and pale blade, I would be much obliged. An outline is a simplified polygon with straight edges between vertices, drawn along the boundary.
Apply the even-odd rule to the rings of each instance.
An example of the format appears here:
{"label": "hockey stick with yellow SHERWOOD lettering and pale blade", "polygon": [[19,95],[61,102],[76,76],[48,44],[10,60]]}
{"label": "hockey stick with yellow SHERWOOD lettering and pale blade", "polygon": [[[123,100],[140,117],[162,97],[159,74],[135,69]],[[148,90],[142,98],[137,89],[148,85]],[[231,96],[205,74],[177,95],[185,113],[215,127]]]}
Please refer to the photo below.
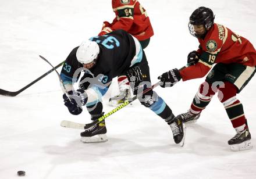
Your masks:
{"label": "hockey stick with yellow SHERWOOD lettering and pale blade", "polygon": [[153,90],[155,87],[157,87],[159,84],[161,84],[161,81],[158,81],[158,83],[152,85],[152,87],[145,89],[142,94],[138,94],[136,96],[133,96],[133,98],[131,99],[131,101],[125,101],[123,102],[121,105],[119,105],[118,107],[116,107],[115,109],[111,110],[111,112],[106,113],[104,116],[99,117],[97,120],[94,120],[92,123],[88,123],[88,124],[80,124],[80,123],[76,123],[76,122],[72,122],[72,121],[68,121],[68,120],[63,120],[61,121],[61,126],[62,127],[68,127],[68,128],[76,128],[76,129],[87,129],[87,125],[88,126],[93,126],[94,124],[99,123],[100,121],[106,119],[106,117],[111,116],[113,113],[117,112],[118,110],[124,108],[125,106],[129,105],[131,102],[135,101],[138,97],[142,96],[143,94],[145,94],[148,91]]}

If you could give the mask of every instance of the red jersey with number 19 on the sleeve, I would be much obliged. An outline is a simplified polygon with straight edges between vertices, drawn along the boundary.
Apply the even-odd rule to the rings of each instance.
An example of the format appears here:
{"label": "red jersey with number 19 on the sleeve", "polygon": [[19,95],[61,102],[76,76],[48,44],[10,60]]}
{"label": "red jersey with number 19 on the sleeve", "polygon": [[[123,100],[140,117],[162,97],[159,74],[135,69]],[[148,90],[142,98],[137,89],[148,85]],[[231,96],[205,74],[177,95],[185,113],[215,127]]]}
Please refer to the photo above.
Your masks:
{"label": "red jersey with number 19 on the sleeve", "polygon": [[256,65],[256,51],[246,38],[221,24],[214,24],[204,39],[198,38],[200,60],[196,65],[180,70],[183,81],[204,77],[214,63]]}

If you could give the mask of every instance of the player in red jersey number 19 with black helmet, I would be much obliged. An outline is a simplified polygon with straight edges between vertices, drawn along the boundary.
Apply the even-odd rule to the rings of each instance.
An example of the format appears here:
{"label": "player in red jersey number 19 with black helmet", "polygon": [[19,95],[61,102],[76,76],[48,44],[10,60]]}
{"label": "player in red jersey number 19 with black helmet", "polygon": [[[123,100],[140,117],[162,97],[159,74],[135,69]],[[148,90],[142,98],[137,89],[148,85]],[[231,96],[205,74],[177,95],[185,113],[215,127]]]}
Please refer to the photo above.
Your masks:
{"label": "player in red jersey number 19 with black helmet", "polygon": [[237,133],[228,144],[233,151],[251,149],[253,145],[246,116],[236,94],[243,90],[255,74],[256,51],[246,38],[214,23],[214,19],[214,13],[209,8],[194,10],[190,16],[189,31],[200,43],[199,49],[188,55],[188,62],[194,65],[182,70],[169,70],[158,79],[163,82],[161,87],[172,87],[180,80],[204,77],[216,63],[200,85],[190,110],[177,118],[184,123],[197,120],[212,96],[218,92],[218,98]]}

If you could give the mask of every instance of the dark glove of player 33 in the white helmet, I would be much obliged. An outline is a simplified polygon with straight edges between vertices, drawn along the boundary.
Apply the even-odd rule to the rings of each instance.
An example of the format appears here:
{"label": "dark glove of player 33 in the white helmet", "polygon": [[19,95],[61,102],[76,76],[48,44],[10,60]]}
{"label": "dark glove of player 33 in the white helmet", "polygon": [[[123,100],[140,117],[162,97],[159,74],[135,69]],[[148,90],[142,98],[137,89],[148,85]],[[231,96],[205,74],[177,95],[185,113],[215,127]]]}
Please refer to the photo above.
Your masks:
{"label": "dark glove of player 33 in the white helmet", "polygon": [[69,91],[68,94],[71,101],[67,98],[66,94],[63,94],[64,105],[67,106],[67,109],[73,115],[80,114],[83,111],[82,106],[86,105],[88,98],[86,93],[83,92],[83,90]]}

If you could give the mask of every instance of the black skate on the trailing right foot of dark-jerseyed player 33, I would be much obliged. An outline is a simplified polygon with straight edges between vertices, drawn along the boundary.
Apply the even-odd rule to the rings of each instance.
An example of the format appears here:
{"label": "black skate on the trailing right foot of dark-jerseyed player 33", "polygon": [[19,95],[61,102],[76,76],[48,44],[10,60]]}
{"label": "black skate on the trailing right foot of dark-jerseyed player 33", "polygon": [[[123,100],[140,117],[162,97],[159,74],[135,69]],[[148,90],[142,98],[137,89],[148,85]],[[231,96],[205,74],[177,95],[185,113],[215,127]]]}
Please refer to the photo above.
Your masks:
{"label": "black skate on the trailing right foot of dark-jerseyed player 33", "polygon": [[180,144],[180,146],[184,145],[184,139],[186,135],[186,126],[182,123],[182,120],[173,119],[172,121],[168,122],[170,128],[172,129],[173,139],[176,144]]}

